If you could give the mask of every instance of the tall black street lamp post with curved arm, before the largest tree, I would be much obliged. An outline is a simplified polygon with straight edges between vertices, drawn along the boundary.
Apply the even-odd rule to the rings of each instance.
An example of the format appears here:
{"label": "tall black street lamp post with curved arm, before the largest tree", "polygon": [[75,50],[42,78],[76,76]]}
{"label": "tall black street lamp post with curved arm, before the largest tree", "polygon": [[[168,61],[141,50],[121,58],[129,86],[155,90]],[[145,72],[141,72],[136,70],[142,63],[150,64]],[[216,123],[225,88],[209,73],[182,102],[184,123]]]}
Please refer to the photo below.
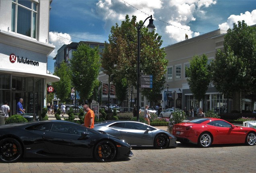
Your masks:
{"label": "tall black street lamp post with curved arm, before the largest tree", "polygon": [[141,26],[137,27],[137,34],[138,34],[138,53],[137,53],[137,121],[139,121],[139,105],[140,105],[140,29],[146,22],[146,20],[149,19],[149,25],[147,28],[149,29],[149,32],[153,32],[155,25],[153,24],[152,15],[147,17]]}

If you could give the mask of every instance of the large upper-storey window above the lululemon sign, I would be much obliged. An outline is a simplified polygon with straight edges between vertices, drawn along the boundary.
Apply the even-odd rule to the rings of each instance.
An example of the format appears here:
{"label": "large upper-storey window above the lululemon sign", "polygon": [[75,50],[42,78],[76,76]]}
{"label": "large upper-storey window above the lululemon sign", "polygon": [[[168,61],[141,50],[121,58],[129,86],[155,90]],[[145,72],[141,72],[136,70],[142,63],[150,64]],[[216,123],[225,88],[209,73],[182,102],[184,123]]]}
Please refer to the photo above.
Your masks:
{"label": "large upper-storey window above the lululemon sign", "polygon": [[31,38],[37,35],[37,4],[31,0],[12,0],[12,32]]}

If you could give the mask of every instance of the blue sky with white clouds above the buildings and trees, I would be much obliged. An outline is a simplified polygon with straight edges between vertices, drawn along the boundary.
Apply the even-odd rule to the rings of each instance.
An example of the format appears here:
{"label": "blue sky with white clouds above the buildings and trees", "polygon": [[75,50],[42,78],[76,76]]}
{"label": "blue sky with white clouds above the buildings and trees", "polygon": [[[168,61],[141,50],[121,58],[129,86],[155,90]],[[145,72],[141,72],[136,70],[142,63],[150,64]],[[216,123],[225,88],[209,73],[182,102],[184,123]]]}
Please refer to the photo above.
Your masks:
{"label": "blue sky with white clouds above the buildings and trees", "polygon": [[256,24],[256,0],[53,0],[51,7],[49,43],[56,46],[48,56],[51,73],[63,44],[108,42],[111,26],[120,26],[126,14],[137,21],[152,15],[162,47],[185,40],[185,34],[192,38],[233,28],[237,21]]}

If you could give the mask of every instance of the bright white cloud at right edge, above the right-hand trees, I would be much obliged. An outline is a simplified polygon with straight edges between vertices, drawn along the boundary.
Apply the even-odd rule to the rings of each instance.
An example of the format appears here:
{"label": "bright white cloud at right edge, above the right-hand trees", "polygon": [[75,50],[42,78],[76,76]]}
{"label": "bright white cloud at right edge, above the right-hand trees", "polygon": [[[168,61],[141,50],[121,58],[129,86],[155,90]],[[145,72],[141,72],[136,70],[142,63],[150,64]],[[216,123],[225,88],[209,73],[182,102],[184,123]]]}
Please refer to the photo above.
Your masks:
{"label": "bright white cloud at right edge, above the right-hand trees", "polygon": [[250,12],[241,13],[238,15],[231,15],[227,18],[227,22],[219,24],[219,28],[223,30],[228,30],[229,28],[233,28],[233,23],[237,24],[237,21],[244,20],[248,26],[256,24],[256,10]]}

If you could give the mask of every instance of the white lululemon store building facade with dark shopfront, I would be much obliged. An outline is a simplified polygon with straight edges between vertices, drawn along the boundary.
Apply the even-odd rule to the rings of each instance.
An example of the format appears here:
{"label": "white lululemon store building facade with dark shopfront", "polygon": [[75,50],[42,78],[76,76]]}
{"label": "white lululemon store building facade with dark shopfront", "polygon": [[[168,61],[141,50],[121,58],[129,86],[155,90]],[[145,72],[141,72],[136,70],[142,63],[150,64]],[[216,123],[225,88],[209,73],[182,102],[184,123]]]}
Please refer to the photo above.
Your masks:
{"label": "white lululemon store building facade with dark shopfront", "polygon": [[19,98],[26,113],[41,115],[46,107],[47,83],[58,76],[47,74],[52,0],[0,0],[0,104],[8,101],[16,114]]}

